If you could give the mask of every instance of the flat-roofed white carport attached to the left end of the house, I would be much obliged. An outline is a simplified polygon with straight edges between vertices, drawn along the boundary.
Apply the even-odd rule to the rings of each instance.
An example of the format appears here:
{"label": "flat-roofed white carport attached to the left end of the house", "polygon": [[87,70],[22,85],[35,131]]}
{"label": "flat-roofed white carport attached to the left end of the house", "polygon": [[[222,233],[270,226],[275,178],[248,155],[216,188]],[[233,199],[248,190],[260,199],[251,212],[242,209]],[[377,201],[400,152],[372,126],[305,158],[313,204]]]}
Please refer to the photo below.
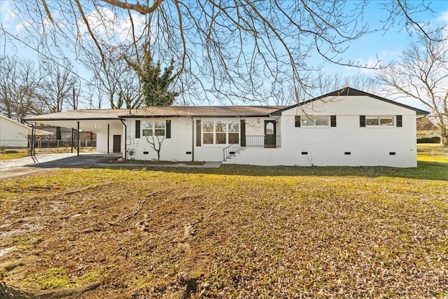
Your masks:
{"label": "flat-roofed white carport attached to the left end of the house", "polygon": [[[43,124],[55,127],[66,127],[76,131],[90,131],[97,133],[97,152],[121,153],[123,144],[126,151],[125,127],[118,116],[127,112],[126,109],[97,109],[73,110],[45,114],[26,118],[30,125]],[[72,137],[73,138],[73,137]],[[77,155],[79,155],[80,139],[77,138]]]}

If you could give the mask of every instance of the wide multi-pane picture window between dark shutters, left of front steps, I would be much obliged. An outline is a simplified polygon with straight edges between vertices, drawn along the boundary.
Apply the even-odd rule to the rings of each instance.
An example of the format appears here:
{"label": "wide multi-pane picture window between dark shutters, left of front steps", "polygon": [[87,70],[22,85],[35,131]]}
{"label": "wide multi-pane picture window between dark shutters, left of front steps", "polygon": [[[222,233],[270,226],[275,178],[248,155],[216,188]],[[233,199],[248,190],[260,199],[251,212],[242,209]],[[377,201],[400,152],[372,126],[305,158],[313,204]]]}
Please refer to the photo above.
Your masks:
{"label": "wide multi-pane picture window between dark shutters, left of front steps", "polygon": [[202,122],[203,144],[237,144],[239,142],[239,122],[223,120]]}

